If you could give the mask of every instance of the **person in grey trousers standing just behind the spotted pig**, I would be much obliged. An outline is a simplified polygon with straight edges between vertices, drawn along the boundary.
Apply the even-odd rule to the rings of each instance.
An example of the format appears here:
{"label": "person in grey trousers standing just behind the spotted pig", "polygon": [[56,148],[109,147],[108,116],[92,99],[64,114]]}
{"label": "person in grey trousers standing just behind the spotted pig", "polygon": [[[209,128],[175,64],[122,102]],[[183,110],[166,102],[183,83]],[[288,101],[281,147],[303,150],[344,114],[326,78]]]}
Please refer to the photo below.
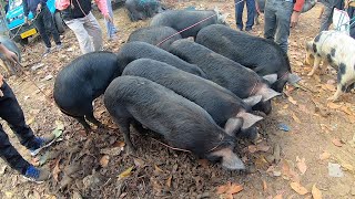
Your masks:
{"label": "person in grey trousers standing just behind the spotted pig", "polygon": [[339,10],[344,9],[344,0],[322,0],[324,4],[324,11],[321,17],[321,28],[320,32],[327,31],[333,23],[333,11],[334,8]]}

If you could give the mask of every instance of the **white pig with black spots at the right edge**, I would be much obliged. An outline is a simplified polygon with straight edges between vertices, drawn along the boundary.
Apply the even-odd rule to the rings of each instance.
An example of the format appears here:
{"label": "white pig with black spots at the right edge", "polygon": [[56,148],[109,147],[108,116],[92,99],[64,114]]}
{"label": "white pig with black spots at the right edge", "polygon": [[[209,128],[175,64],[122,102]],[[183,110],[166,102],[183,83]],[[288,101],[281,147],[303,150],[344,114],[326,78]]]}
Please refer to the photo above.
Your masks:
{"label": "white pig with black spots at the right edge", "polygon": [[337,90],[329,97],[336,101],[347,87],[355,83],[355,40],[338,31],[323,31],[306,43],[307,64],[313,64],[308,76],[312,76],[318,69],[321,61],[324,65],[328,63],[337,69]]}

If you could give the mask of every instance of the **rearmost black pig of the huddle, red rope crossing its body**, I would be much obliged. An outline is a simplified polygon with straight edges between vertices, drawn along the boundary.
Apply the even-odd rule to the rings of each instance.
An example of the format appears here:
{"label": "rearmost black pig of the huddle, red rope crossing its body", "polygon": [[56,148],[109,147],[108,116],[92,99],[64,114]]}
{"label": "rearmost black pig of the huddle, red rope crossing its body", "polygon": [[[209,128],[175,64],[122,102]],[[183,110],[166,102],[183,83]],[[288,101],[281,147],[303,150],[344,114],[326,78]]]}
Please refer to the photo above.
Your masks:
{"label": "rearmost black pig of the huddle, red rope crossing its body", "polygon": [[[197,32],[210,24],[226,24],[227,14],[215,10],[169,10],[154,15],[151,27],[171,27],[182,31],[182,38],[196,36]],[[192,27],[194,25],[194,27]],[[191,28],[190,28],[191,27]],[[187,29],[190,28],[190,29]]]}

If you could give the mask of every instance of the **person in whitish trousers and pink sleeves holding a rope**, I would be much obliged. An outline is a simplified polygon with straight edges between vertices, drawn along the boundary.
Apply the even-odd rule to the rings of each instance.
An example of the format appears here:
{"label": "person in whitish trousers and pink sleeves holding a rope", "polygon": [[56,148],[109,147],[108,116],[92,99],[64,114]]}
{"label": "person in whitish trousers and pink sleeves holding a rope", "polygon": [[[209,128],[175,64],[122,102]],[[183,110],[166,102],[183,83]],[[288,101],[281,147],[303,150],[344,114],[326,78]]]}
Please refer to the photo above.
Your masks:
{"label": "person in whitish trousers and pink sleeves holding a rope", "polygon": [[[104,19],[112,22],[106,0],[95,2]],[[82,54],[102,50],[102,31],[91,12],[91,0],[57,0],[55,8],[61,10],[65,24],[74,32]]]}

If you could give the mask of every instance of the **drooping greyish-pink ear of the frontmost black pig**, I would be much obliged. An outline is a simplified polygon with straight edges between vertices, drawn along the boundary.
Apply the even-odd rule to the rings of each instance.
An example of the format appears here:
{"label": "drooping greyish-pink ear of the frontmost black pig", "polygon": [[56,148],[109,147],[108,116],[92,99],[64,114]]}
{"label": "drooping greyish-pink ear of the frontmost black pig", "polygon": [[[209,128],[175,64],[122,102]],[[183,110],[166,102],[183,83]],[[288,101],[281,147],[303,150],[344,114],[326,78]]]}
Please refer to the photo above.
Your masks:
{"label": "drooping greyish-pink ear of the frontmost black pig", "polygon": [[230,170],[245,170],[244,163],[239,158],[231,148],[223,148],[212,153],[214,156],[222,157],[222,166]]}

